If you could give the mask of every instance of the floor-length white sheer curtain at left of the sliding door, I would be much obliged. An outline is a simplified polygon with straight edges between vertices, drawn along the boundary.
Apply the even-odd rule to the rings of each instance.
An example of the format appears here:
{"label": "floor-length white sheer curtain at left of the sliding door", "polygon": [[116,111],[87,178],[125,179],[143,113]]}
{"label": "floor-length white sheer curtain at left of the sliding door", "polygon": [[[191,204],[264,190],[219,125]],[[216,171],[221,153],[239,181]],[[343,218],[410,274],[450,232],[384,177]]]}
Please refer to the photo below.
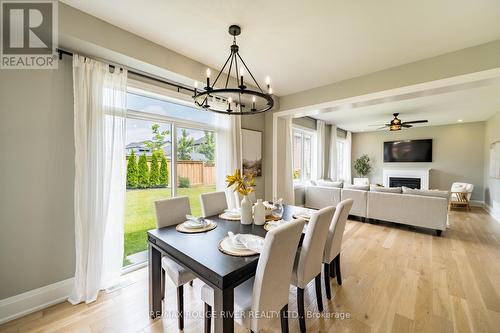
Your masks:
{"label": "floor-length white sheer curtain at left of the sliding door", "polygon": [[76,272],[72,304],[96,300],[123,261],[127,71],[73,56]]}

